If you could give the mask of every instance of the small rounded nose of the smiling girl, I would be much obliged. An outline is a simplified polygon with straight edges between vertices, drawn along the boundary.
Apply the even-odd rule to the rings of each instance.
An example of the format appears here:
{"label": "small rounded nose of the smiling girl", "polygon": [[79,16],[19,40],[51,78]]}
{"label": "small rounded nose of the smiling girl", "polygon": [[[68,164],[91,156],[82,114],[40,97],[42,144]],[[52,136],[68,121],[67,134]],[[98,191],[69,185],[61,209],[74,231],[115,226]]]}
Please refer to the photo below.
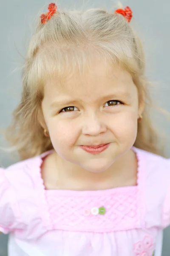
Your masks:
{"label": "small rounded nose of the smiling girl", "polygon": [[85,118],[84,125],[82,127],[82,134],[97,136],[101,133],[106,132],[107,127],[101,119],[95,115],[89,115]]}

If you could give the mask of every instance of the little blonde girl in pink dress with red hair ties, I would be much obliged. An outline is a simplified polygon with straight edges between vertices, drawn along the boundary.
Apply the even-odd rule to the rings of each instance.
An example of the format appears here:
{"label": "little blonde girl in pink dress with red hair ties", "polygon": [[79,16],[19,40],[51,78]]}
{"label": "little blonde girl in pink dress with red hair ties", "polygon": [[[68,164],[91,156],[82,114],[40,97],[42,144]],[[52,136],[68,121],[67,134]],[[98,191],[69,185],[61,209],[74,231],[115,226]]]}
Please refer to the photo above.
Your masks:
{"label": "little blonde girl in pink dress with red hair ties", "polygon": [[41,15],[7,133],[22,161],[0,169],[9,256],[152,256],[170,224],[170,160],[131,18],[54,3]]}

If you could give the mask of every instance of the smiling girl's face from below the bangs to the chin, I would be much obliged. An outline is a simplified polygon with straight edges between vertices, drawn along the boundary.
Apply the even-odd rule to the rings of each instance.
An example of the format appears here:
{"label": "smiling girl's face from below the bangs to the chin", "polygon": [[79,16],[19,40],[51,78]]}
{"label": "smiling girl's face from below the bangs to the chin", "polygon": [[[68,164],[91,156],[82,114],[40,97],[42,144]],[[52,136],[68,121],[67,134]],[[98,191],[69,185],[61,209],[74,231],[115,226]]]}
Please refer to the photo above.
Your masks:
{"label": "smiling girl's face from below the bangs to the chin", "polygon": [[105,171],[129,151],[141,113],[130,74],[102,61],[83,75],[49,79],[42,112],[57,154],[91,172]]}

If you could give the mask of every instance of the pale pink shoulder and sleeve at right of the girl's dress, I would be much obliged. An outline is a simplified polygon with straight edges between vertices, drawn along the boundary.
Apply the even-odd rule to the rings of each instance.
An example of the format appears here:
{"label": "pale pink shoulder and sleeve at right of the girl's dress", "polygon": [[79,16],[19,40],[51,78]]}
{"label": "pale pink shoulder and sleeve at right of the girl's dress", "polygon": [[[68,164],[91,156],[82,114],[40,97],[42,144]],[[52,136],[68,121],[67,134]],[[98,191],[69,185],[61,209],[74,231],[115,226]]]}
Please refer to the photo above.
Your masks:
{"label": "pale pink shoulder and sleeve at right of the girl's dress", "polygon": [[139,158],[139,194],[145,224],[163,227],[164,201],[170,190],[170,159],[138,148],[134,151]]}

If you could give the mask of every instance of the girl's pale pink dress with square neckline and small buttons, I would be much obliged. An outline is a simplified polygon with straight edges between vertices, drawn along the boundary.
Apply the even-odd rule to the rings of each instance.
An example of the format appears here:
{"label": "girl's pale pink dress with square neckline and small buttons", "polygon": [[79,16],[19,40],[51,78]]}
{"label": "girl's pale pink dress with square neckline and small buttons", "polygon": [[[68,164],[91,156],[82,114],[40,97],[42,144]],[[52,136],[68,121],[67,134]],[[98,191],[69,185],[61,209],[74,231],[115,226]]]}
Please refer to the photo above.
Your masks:
{"label": "girl's pale pink dress with square neckline and small buttons", "polygon": [[138,185],[45,190],[34,157],[0,169],[0,231],[9,256],[152,256],[170,224],[170,160],[136,151]]}

